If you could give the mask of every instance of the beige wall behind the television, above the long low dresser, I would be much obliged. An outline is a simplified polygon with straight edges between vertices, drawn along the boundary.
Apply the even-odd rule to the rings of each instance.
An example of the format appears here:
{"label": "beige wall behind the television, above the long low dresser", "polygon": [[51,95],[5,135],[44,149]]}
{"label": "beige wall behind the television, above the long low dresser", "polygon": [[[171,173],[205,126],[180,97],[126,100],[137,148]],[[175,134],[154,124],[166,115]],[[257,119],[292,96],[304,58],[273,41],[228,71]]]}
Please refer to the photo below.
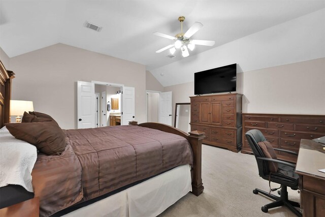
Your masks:
{"label": "beige wall behind the television, above the long low dresser", "polygon": [[[325,114],[325,58],[238,73],[245,113]],[[194,82],[165,87],[175,103],[190,102]]]}

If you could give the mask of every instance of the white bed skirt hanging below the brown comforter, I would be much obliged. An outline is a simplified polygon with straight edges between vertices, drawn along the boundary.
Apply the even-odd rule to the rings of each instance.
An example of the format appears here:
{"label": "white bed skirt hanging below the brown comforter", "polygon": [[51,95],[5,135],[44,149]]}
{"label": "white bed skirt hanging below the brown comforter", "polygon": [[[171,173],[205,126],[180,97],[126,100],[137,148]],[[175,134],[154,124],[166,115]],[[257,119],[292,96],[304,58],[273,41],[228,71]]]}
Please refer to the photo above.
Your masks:
{"label": "white bed skirt hanging below the brown comforter", "polygon": [[63,216],[157,216],[190,191],[190,166],[182,165]]}

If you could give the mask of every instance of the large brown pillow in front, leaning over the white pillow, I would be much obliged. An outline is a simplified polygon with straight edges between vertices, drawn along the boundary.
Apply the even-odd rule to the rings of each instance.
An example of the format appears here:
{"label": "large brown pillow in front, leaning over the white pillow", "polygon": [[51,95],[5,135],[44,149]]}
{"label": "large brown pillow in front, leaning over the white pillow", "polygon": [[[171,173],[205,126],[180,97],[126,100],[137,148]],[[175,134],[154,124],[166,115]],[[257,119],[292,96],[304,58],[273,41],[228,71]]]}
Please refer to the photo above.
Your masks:
{"label": "large brown pillow in front, leaning over the white pillow", "polygon": [[66,134],[53,121],[8,123],[8,131],[17,139],[35,145],[48,155],[59,155],[66,148]]}

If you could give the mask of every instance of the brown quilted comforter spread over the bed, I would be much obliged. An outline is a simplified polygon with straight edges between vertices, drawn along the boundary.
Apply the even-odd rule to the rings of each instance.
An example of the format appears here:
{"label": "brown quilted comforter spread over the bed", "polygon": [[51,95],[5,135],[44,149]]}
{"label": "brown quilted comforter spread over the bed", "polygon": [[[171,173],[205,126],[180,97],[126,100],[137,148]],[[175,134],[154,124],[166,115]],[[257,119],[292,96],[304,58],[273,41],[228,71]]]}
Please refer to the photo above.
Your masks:
{"label": "brown quilted comforter spread over the bed", "polygon": [[[154,129],[116,126],[66,132],[68,139],[66,151],[70,153],[73,149],[75,157],[71,157],[70,160],[74,162],[56,161],[56,163],[64,173],[73,170],[74,172],[70,173],[69,177],[68,174],[64,175],[65,181],[58,182],[58,185],[63,185],[68,191],[53,185],[53,189],[56,188],[53,194],[59,195],[64,204],[75,203],[78,199],[86,201],[179,165],[192,164],[193,161],[190,144],[185,138]],[[64,156],[66,151],[61,156]],[[82,175],[78,173],[78,165],[81,165]],[[70,167],[71,169],[68,169]],[[59,174],[62,176],[64,173]],[[57,176],[52,172],[48,175],[53,176],[53,180]],[[81,177],[82,192],[79,182]],[[71,182],[70,179],[74,181]],[[36,195],[37,192],[35,191]],[[43,204],[45,208],[42,208],[41,198],[42,215],[54,213],[53,206],[58,202],[52,199],[50,201],[51,204]],[[60,209],[57,208],[56,211]]]}

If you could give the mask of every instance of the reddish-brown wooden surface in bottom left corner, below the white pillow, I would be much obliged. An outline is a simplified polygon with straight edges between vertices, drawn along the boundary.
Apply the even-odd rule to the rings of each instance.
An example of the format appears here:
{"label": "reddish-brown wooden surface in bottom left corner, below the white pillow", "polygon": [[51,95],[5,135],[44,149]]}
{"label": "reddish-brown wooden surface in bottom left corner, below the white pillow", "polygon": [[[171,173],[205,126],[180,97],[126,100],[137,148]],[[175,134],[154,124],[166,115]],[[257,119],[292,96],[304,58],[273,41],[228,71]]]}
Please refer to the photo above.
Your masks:
{"label": "reddish-brown wooden surface in bottom left corner, below the white pillow", "polygon": [[38,197],[0,209],[1,217],[39,217],[40,200]]}

